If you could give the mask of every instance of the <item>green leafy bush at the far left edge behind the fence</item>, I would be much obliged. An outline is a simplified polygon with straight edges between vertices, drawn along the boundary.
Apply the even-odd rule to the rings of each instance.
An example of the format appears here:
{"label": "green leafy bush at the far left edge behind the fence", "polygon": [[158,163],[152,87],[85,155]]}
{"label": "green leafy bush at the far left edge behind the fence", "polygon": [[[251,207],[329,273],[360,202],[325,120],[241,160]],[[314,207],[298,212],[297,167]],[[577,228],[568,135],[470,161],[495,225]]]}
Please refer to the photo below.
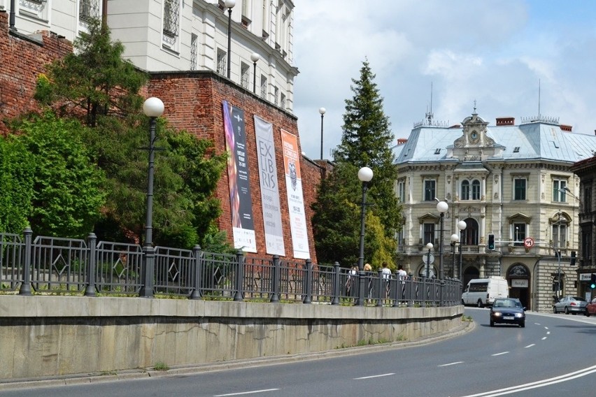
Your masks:
{"label": "green leafy bush at the far left edge behind the fence", "polygon": [[0,138],[0,233],[22,233],[29,225],[34,158],[15,136]]}

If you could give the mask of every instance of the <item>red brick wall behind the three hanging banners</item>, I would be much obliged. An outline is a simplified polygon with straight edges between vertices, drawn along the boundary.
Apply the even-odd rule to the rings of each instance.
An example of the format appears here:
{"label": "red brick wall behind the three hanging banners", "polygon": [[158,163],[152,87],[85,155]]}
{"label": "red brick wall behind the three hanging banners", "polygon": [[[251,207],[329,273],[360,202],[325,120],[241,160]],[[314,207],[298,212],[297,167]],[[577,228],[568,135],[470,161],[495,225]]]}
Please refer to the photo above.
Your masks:
{"label": "red brick wall behind the three hanging banners", "polygon": [[[257,161],[257,147],[255,139],[255,124],[253,115],[273,124],[274,144],[278,170],[278,186],[284,233],[285,258],[293,258],[292,236],[290,233],[290,218],[288,211],[288,195],[285,189],[285,175],[283,173],[283,152],[281,150],[280,129],[298,134],[297,118],[290,113],[272,106],[252,92],[229,82],[226,78],[212,72],[172,72],[152,73],[148,87],[148,96],[158,96],[164,102],[164,117],[176,127],[186,129],[201,138],[215,141],[215,150],[225,152],[225,133],[223,128],[222,101],[228,101],[244,111],[246,127],[246,152],[248,154],[248,172],[250,174],[250,192],[253,200],[253,219],[255,237],[257,240],[258,257],[267,256],[264,240],[263,213],[261,206],[261,192],[259,183],[259,169]],[[300,143],[299,143],[300,145]],[[311,260],[316,263],[313,230],[311,226],[311,203],[315,199],[316,189],[321,173],[317,164],[301,159],[300,162],[302,186],[304,192],[304,210],[308,233],[308,245]],[[223,215],[219,219],[221,230],[227,231],[232,241],[232,217],[229,203],[229,189],[227,170],[223,171],[217,189]]]}

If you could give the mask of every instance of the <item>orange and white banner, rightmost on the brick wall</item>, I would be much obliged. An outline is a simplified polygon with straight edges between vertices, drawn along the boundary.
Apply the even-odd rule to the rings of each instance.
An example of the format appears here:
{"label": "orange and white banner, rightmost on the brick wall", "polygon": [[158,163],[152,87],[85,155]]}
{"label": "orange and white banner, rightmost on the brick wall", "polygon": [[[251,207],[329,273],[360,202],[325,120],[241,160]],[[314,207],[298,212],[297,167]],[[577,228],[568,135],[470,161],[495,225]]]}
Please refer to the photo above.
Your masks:
{"label": "orange and white banner, rightmost on the brick wall", "polygon": [[281,130],[283,148],[283,166],[285,168],[285,189],[288,191],[288,209],[290,210],[290,231],[294,257],[310,259],[308,250],[308,233],[306,232],[306,216],[304,215],[304,196],[300,177],[300,157],[298,140],[295,135]]}

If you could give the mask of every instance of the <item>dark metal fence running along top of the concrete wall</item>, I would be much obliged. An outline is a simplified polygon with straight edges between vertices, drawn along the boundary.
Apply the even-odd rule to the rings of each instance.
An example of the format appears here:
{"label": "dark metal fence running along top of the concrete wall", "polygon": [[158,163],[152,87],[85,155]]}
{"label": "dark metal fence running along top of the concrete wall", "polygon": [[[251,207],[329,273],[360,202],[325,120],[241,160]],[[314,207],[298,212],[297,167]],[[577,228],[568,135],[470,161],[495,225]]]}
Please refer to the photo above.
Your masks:
{"label": "dark metal fence running along top of the concrete wall", "polygon": [[[385,279],[378,273],[350,272],[316,266],[310,260],[285,261],[136,244],[32,237],[0,233],[0,291],[30,295],[122,294],[186,296],[191,299],[358,304],[448,306],[461,302],[460,280],[436,280],[409,275]],[[151,259],[150,259],[151,257]],[[360,280],[364,282],[360,282]]]}

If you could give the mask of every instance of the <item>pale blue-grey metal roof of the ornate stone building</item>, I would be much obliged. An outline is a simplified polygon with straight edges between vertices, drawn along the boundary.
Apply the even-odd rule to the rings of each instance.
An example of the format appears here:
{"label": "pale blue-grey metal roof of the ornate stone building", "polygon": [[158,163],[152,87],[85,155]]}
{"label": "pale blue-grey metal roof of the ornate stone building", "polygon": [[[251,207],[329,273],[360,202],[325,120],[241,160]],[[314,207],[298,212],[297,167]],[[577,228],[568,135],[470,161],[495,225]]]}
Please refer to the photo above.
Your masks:
{"label": "pale blue-grey metal roof of the ornate stone building", "polygon": [[[459,161],[447,157],[448,147],[462,136],[462,127],[418,127],[408,141],[392,148],[396,164],[408,162]],[[573,164],[593,157],[596,136],[562,131],[558,124],[532,122],[520,125],[488,126],[487,136],[503,148],[491,160],[560,161]]]}

